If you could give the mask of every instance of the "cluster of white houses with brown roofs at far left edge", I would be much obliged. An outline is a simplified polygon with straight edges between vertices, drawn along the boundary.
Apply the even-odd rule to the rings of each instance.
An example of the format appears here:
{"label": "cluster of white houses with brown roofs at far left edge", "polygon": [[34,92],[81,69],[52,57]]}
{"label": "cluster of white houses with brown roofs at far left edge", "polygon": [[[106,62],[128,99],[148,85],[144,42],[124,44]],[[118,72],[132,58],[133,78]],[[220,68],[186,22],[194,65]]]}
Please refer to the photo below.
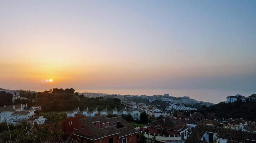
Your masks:
{"label": "cluster of white houses with brown roofs at far left edge", "polygon": [[42,124],[46,122],[43,116],[36,116],[35,109],[27,107],[27,104],[10,105],[7,107],[0,107],[0,123],[7,122],[11,124],[19,124],[23,121],[31,122],[33,125]]}

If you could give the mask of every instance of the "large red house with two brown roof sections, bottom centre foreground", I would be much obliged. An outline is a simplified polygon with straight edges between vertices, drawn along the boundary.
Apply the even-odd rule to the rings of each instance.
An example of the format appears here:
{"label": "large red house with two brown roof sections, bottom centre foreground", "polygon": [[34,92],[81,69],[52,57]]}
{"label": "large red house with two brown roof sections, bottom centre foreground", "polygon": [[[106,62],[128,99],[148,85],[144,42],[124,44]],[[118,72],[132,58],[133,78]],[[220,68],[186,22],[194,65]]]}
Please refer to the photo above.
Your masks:
{"label": "large red house with two brown roof sections, bottom centre foreground", "polygon": [[101,115],[80,119],[74,135],[81,143],[136,143],[137,132],[121,116],[107,119]]}

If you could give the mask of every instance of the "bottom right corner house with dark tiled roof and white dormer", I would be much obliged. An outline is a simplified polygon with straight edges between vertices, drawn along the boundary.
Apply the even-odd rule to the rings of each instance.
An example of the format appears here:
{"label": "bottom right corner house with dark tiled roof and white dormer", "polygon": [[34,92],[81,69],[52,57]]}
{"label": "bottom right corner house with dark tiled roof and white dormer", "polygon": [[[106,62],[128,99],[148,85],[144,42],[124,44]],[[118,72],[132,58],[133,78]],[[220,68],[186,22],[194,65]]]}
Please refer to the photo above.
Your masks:
{"label": "bottom right corner house with dark tiled roof and white dormer", "polygon": [[256,143],[256,134],[208,125],[197,125],[185,143]]}

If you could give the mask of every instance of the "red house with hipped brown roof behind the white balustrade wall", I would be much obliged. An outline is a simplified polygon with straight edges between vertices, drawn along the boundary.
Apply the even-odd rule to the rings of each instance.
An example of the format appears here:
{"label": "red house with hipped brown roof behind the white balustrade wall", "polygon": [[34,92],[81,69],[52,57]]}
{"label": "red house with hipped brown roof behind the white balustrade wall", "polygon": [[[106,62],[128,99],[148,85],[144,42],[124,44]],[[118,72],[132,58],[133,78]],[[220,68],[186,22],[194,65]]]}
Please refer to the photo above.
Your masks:
{"label": "red house with hipped brown roof behind the white balustrade wall", "polygon": [[188,126],[186,123],[177,121],[167,116],[148,125],[150,134],[180,135],[182,140],[188,136]]}

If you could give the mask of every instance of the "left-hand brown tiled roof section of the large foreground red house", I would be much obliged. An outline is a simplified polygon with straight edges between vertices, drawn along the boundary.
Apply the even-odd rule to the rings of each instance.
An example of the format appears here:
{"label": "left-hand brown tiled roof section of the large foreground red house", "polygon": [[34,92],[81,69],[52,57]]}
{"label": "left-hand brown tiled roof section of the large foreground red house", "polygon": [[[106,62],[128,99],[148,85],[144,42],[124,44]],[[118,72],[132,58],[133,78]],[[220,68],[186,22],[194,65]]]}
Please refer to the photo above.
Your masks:
{"label": "left-hand brown tiled roof section of the large foreground red house", "polygon": [[115,126],[113,126],[112,123],[109,123],[109,127],[97,128],[93,124],[93,122],[95,122],[95,121],[100,121],[100,123],[108,123],[109,122],[109,120],[107,118],[105,118],[104,116],[94,116],[94,117],[90,117],[90,118],[80,119],[80,122],[83,123],[84,125],[86,125],[86,128],[91,132],[92,136],[80,134],[79,132],[75,133],[75,135],[84,136],[85,138],[95,140],[98,138],[102,138],[104,136],[109,136],[109,135],[119,133],[119,131],[116,129]]}

